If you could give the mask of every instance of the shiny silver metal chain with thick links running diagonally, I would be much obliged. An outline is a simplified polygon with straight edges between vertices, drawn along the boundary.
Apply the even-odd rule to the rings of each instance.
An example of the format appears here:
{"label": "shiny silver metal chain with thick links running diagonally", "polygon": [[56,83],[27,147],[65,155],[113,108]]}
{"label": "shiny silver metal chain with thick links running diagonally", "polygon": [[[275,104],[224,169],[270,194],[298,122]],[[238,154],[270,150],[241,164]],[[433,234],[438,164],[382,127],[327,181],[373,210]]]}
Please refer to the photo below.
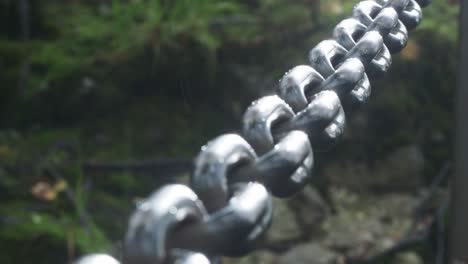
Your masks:
{"label": "shiny silver metal chain with thick links running diagonally", "polygon": [[[332,38],[310,51],[310,65],[294,67],[277,95],[252,103],[242,136],[222,135],[202,147],[191,188],[166,185],[136,209],[123,262],[202,264],[254,250],[271,223],[271,195],[291,197],[313,177],[314,151],[341,138],[344,108],[349,114],[367,101],[369,80],[388,71],[390,54],[406,46],[408,30],[420,23],[421,7],[430,2],[358,3]],[[118,262],[91,255],[77,263]]]}

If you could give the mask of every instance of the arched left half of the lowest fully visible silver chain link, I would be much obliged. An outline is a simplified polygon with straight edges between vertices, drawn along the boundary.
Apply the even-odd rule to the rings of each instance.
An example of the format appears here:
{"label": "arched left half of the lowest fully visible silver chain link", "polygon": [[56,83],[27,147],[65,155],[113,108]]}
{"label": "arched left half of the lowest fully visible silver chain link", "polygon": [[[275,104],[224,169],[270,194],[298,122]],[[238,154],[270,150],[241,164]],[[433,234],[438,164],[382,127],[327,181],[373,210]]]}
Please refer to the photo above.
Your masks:
{"label": "arched left half of the lowest fully visible silver chain link", "polygon": [[133,213],[125,236],[125,263],[162,263],[171,230],[184,222],[202,222],[203,203],[184,185],[168,185],[145,200]]}

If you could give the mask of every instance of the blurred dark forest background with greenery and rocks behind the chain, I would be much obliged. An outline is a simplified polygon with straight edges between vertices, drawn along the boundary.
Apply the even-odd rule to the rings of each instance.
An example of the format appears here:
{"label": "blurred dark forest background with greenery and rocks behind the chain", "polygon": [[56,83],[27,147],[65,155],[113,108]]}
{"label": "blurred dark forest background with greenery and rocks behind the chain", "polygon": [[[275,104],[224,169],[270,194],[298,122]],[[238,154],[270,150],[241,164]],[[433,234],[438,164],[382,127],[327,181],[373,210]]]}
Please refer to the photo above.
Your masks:
{"label": "blurred dark forest background with greenery and rocks behind the chain", "polygon": [[[186,181],[200,146],[237,131],[250,102],[307,63],[356,3],[0,0],[0,263],[118,255],[135,204]],[[312,188],[275,201],[262,250],[227,262],[444,254],[433,237],[385,252],[414,231],[414,206],[450,167],[457,18],[456,1],[424,9],[344,140],[320,153]]]}

